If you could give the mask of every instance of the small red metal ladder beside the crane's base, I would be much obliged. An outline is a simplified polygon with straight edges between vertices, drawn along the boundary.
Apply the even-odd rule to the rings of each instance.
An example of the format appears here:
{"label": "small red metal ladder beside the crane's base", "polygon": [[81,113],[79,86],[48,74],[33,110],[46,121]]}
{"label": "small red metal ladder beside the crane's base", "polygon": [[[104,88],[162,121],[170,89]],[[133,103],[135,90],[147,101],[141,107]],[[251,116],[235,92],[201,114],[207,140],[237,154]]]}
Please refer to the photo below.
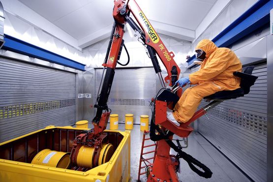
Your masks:
{"label": "small red metal ladder beside the crane's base", "polygon": [[[140,182],[140,176],[146,174],[146,171],[141,172],[141,169],[143,169],[145,167],[151,166],[152,163],[153,163],[153,161],[154,161],[155,155],[156,155],[157,142],[154,143],[154,144],[145,145],[145,141],[150,140],[150,137],[146,138],[146,135],[149,135],[149,134],[150,134],[150,131],[144,130],[144,132],[143,132],[143,139],[142,139],[142,145],[141,145],[141,152],[140,152],[140,159],[139,159],[138,182]],[[143,152],[144,148],[149,148],[149,147],[153,147],[153,146],[155,146],[155,147],[154,147],[154,149],[152,151]],[[154,153],[153,157],[149,157],[149,158],[145,158],[144,157],[144,155],[150,154],[150,153]],[[152,160],[152,162],[150,160]],[[142,166],[142,162],[144,162],[144,166]]]}

